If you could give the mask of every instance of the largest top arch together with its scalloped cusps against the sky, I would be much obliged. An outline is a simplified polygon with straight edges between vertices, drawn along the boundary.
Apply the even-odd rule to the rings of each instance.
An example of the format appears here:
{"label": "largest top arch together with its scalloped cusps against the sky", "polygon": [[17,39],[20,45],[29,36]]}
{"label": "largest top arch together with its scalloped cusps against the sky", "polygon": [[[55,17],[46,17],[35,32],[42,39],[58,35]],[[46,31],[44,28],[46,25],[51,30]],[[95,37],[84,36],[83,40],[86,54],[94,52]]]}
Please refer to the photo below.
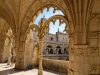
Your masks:
{"label": "largest top arch together with its scalloped cusps against the sky", "polygon": [[[43,11],[44,8],[49,9],[50,7],[54,7],[54,11],[59,9],[64,13],[64,15],[67,14],[68,15],[67,19],[69,22],[71,22],[68,12],[66,13],[66,11],[64,10],[64,7],[61,6],[59,3],[55,2],[55,1],[54,2],[44,2],[42,5],[39,5],[39,6],[37,4],[37,7],[35,7],[35,8],[34,8],[34,5],[30,6],[27,14],[24,17],[25,21],[23,20],[23,24],[22,24],[21,28],[24,27],[23,29],[26,30],[29,27],[28,25],[29,25],[30,21],[34,22],[34,20],[36,19],[37,13],[39,14],[39,13],[41,13],[41,11]],[[33,10],[33,8],[34,8],[34,10]],[[32,17],[33,17],[33,19],[32,19]],[[71,23],[69,23],[69,24],[71,24]]]}

